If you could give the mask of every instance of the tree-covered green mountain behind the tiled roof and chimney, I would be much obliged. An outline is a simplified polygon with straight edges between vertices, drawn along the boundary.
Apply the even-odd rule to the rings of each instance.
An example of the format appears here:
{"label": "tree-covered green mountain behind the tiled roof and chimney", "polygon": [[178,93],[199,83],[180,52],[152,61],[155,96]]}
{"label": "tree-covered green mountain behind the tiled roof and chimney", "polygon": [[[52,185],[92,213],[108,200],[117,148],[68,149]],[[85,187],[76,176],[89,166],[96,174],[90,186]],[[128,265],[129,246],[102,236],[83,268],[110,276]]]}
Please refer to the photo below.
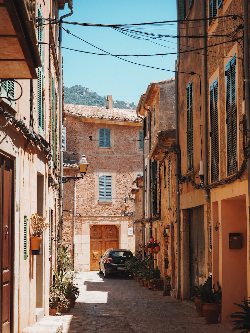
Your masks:
{"label": "tree-covered green mountain behind the tiled roof and chimney", "polygon": [[[64,103],[78,105],[93,105],[106,107],[107,97],[97,95],[94,91],[82,86],[64,87]],[[113,101],[113,108],[136,110],[134,102]]]}

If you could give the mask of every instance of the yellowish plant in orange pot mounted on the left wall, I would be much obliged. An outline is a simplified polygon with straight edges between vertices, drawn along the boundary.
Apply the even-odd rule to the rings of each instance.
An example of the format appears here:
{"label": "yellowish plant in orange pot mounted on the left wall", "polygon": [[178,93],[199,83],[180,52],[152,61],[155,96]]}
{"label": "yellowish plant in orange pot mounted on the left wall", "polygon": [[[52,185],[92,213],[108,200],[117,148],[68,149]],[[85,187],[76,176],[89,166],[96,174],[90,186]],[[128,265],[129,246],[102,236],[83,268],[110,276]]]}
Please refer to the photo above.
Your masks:
{"label": "yellowish plant in orange pot mounted on the left wall", "polygon": [[30,248],[31,250],[38,251],[42,241],[41,233],[49,226],[49,224],[45,222],[45,217],[35,213],[31,215],[30,225],[33,232],[30,237]]}

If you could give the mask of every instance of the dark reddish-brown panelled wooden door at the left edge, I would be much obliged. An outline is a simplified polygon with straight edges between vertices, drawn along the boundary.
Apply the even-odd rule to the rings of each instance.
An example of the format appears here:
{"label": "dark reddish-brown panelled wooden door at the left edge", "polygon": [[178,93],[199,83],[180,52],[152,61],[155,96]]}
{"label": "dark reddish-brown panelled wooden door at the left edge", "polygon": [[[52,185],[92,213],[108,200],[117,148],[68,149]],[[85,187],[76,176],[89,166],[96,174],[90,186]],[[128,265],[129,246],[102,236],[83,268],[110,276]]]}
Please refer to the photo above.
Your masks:
{"label": "dark reddish-brown panelled wooden door at the left edge", "polygon": [[11,238],[13,220],[12,170],[12,161],[0,155],[1,333],[11,332]]}

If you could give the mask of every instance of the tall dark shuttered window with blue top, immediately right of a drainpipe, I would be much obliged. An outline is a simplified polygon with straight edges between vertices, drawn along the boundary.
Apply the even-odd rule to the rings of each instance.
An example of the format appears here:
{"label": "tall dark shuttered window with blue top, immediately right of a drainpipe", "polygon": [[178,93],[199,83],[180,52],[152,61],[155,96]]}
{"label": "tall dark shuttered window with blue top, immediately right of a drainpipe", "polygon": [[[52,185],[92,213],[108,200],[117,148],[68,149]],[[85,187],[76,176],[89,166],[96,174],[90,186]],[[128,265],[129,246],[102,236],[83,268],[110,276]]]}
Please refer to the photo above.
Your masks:
{"label": "tall dark shuttered window with blue top, immediately right of a drainpipe", "polygon": [[211,181],[219,179],[218,80],[210,87]]}

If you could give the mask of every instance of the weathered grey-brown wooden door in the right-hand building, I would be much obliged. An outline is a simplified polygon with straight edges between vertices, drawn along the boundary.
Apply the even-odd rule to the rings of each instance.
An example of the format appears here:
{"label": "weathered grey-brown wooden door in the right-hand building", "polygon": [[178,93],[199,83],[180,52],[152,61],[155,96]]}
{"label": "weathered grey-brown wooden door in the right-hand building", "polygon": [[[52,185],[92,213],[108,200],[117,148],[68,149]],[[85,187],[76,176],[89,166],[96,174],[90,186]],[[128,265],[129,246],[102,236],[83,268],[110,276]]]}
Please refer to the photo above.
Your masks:
{"label": "weathered grey-brown wooden door in the right-hand building", "polygon": [[189,211],[190,288],[205,282],[205,237],[203,207]]}

